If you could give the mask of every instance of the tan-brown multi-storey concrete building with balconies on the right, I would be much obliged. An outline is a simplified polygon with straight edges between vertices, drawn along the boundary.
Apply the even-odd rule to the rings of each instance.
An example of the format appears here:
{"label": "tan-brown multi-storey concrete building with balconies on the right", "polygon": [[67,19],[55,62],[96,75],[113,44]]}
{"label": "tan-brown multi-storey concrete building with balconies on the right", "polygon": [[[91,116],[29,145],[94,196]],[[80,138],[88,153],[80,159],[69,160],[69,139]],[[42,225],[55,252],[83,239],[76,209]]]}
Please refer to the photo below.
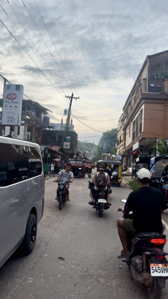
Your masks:
{"label": "tan-brown multi-storey concrete building with balconies on the right", "polygon": [[148,55],[123,106],[117,154],[131,167],[139,155],[155,155],[157,138],[168,139],[168,51]]}

